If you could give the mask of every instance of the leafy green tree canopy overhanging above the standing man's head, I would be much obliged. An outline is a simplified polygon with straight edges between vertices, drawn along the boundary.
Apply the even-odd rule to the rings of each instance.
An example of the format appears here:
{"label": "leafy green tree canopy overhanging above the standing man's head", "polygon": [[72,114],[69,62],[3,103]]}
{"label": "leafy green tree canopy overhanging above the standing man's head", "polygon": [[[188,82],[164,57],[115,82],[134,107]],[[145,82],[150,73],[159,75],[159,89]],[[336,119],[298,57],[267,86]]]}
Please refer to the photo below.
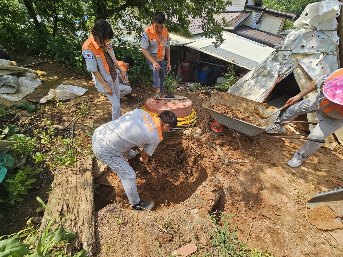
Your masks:
{"label": "leafy green tree canopy overhanging above the standing man's head", "polygon": [[[203,36],[215,39],[214,44],[224,42],[223,27],[214,17],[226,10],[232,2],[228,0],[92,0],[88,3],[95,19],[107,19],[116,28],[125,28],[128,33],[140,35],[143,25],[150,26],[155,12],[167,17],[166,27],[171,32],[188,33],[191,20],[200,18]],[[120,35],[119,35],[120,36]]]}

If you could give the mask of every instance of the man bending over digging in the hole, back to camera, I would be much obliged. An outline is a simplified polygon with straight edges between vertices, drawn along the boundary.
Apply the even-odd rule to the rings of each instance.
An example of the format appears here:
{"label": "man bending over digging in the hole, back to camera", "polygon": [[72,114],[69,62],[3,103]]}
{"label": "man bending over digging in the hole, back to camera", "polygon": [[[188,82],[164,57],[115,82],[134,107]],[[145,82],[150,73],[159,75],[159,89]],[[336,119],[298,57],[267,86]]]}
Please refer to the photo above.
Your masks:
{"label": "man bending over digging in the hole, back to camera", "polygon": [[146,164],[148,156],[163,139],[162,133],[176,127],[176,124],[176,114],[171,111],[163,111],[158,117],[153,117],[146,111],[134,109],[94,131],[94,155],[117,173],[133,210],[151,210],[154,203],[139,198],[136,173],[125,158],[129,161],[136,158],[131,147],[143,147],[140,160]]}

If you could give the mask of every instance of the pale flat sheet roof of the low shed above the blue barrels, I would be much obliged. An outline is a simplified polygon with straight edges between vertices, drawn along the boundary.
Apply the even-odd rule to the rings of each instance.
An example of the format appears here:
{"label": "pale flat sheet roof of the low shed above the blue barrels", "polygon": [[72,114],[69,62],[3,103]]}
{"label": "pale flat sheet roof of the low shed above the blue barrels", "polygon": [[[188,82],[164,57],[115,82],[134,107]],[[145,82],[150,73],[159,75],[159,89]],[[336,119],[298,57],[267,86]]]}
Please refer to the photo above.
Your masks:
{"label": "pale flat sheet roof of the low shed above the blue barrels", "polygon": [[269,46],[261,46],[228,31],[223,32],[223,37],[225,41],[219,48],[212,45],[212,39],[205,38],[185,46],[236,64],[247,70],[253,69],[274,51]]}

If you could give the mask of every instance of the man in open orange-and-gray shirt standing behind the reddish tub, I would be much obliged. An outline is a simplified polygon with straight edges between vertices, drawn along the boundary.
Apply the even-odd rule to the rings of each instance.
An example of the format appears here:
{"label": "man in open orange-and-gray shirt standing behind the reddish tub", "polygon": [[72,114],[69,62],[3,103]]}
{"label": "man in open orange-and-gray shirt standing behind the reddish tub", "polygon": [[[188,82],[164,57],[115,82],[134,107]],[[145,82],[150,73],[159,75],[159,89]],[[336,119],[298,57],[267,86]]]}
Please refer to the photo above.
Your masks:
{"label": "man in open orange-and-gray shirt standing behind the reddish tub", "polygon": [[[169,33],[165,25],[164,13],[156,12],[153,17],[153,25],[144,29],[141,41],[142,53],[152,70],[154,88],[156,88],[155,98],[161,97],[166,71],[171,70]],[[168,63],[166,63],[166,59]]]}

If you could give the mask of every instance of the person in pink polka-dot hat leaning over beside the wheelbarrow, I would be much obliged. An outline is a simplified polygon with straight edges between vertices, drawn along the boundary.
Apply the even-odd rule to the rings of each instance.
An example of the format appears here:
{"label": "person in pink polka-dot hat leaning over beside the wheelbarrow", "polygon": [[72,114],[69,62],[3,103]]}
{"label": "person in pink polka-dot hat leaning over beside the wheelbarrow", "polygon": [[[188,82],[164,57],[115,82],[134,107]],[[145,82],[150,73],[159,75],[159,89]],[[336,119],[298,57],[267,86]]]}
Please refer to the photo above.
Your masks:
{"label": "person in pink polka-dot hat leaning over beside the wheelbarrow", "polygon": [[[302,97],[315,89],[320,91],[305,100]],[[309,138],[325,139],[343,126],[343,69],[321,76],[308,84],[298,95],[290,98],[287,103],[292,106],[276,121],[292,121],[298,115],[316,112],[319,123],[308,135]],[[267,133],[286,132],[284,125],[274,124]],[[296,151],[294,157],[287,162],[288,166],[297,168],[307,157],[314,153],[321,143],[306,141],[303,147]]]}

